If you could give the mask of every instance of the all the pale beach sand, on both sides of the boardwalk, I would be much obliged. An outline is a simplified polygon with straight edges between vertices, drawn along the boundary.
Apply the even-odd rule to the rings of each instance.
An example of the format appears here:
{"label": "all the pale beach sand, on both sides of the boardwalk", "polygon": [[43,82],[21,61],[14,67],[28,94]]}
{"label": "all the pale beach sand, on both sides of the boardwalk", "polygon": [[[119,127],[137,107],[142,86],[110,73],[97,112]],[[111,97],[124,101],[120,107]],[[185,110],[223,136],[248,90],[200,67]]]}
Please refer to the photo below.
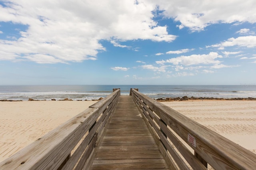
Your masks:
{"label": "all the pale beach sand, on both sides of the boardwalk", "polygon": [[[96,101],[0,102],[0,162]],[[256,101],[162,102],[256,153]]]}

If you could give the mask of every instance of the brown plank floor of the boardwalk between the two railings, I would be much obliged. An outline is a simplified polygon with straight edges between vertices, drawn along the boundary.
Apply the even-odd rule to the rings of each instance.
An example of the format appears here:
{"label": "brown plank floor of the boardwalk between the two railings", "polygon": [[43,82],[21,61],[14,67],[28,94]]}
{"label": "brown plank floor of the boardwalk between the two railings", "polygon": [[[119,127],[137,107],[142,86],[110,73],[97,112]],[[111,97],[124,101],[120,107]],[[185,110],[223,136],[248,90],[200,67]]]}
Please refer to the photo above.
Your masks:
{"label": "brown plank floor of the boardwalk between the two railings", "polygon": [[120,96],[92,169],[168,169],[132,96]]}

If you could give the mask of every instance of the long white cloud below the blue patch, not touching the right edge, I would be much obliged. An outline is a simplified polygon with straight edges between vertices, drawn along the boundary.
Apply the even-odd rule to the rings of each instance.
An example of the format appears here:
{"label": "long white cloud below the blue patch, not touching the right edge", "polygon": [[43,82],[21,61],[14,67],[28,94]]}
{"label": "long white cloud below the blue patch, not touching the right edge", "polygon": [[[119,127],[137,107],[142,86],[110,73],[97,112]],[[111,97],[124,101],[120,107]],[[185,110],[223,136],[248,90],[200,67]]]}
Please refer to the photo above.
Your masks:
{"label": "long white cloud below the blue patch, not touching the right edge", "polygon": [[174,65],[184,64],[184,65],[194,65],[194,64],[219,64],[220,61],[215,60],[217,58],[222,58],[218,53],[210,52],[204,55],[190,55],[190,56],[180,56],[166,61],[156,61],[157,64],[172,63]]}

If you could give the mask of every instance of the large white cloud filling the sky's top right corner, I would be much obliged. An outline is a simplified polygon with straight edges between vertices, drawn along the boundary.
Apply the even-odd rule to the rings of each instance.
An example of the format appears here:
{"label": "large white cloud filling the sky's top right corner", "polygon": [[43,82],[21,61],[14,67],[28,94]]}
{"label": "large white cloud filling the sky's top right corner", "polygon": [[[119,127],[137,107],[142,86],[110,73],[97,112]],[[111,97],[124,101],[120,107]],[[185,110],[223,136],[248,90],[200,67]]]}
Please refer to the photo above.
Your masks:
{"label": "large white cloud filling the sky's top right corner", "polygon": [[214,0],[205,1],[164,1],[150,0],[164,10],[164,16],[180,22],[180,29],[188,27],[191,31],[202,31],[214,23],[255,23],[256,3],[254,0]]}

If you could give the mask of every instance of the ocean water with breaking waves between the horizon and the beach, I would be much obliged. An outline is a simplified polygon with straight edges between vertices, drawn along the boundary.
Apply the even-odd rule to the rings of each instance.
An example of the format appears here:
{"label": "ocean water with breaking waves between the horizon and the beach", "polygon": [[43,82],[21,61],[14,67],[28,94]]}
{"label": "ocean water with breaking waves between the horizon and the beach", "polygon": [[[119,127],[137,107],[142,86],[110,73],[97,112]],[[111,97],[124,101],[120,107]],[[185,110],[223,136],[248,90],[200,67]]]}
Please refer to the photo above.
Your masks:
{"label": "ocean water with breaking waves between the horizon and the beach", "polygon": [[68,86],[0,86],[0,100],[97,100],[120,88],[121,95],[129,95],[130,88],[150,98],[213,97],[213,98],[256,98],[256,85],[68,85]]}

